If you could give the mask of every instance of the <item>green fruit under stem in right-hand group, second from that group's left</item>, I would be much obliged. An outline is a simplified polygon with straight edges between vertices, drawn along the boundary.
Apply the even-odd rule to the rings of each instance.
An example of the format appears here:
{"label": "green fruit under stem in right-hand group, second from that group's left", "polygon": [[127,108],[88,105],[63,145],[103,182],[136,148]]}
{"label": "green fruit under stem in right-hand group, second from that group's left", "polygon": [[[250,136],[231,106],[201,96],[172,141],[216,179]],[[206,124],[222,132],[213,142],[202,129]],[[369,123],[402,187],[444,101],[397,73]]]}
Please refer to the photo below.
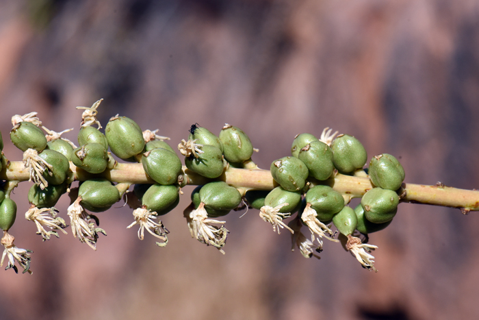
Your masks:
{"label": "green fruit under stem in right-hand group, second from that group's left", "polygon": [[306,202],[311,204],[320,221],[330,221],[344,208],[343,196],[331,186],[313,186],[306,193]]}

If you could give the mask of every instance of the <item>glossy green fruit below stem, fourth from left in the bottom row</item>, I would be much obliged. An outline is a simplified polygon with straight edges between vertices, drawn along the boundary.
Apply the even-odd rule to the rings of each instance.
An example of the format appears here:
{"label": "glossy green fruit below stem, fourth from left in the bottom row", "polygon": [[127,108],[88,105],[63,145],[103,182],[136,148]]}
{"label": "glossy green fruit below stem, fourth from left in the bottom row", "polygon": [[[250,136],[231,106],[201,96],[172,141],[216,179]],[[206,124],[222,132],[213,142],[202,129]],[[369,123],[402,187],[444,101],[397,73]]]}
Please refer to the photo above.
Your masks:
{"label": "glossy green fruit below stem, fourth from left in the bottom row", "polygon": [[142,198],[142,204],[151,211],[161,216],[173,210],[179,203],[177,186],[162,186],[153,184],[146,190]]}

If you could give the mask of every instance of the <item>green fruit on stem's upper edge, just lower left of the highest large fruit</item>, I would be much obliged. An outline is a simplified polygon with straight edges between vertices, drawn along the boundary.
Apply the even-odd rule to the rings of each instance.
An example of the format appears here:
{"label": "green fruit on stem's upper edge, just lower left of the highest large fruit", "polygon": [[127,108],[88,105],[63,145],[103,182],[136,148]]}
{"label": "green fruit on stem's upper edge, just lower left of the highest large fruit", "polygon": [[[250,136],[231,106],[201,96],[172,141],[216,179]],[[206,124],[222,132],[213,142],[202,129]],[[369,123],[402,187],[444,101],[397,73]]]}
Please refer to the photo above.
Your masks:
{"label": "green fruit on stem's upper edge, just lower left of the highest large fruit", "polygon": [[107,149],[100,143],[87,143],[73,150],[72,162],[89,173],[102,173],[107,168]]}

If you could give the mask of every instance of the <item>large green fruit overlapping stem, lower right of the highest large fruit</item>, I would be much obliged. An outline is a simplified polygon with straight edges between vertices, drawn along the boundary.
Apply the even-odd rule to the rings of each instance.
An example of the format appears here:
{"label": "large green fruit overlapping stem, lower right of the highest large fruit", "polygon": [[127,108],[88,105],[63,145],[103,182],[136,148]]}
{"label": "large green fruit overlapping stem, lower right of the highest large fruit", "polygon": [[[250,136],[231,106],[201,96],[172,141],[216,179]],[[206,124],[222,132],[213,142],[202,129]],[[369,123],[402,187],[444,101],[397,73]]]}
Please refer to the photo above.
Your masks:
{"label": "large green fruit overlapping stem, lower right of the highest large fruit", "polygon": [[174,184],[181,173],[177,153],[162,148],[143,153],[142,164],[146,174],[159,184]]}

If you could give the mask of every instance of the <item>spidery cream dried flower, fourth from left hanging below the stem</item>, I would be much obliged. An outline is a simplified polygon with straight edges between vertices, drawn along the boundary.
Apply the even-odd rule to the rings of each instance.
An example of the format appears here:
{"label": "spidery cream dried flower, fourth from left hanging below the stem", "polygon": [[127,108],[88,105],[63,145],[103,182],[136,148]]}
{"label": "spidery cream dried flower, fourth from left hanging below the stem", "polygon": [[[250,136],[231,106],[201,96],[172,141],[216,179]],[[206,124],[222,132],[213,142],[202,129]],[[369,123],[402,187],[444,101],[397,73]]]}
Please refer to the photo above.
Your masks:
{"label": "spidery cream dried flower, fourth from left hanging below the stem", "polygon": [[166,227],[164,227],[161,221],[153,221],[153,219],[158,218],[156,212],[152,212],[146,208],[137,208],[133,210],[133,217],[135,218],[135,221],[131,223],[127,229],[133,227],[133,225],[140,225],[140,229],[138,229],[138,238],[140,240],[143,240],[144,230],[146,229],[146,231],[148,231],[152,236],[155,236],[163,241],[162,243],[156,243],[159,247],[166,246],[168,243],[168,237],[166,234],[169,234],[170,232],[168,229],[166,229]]}

